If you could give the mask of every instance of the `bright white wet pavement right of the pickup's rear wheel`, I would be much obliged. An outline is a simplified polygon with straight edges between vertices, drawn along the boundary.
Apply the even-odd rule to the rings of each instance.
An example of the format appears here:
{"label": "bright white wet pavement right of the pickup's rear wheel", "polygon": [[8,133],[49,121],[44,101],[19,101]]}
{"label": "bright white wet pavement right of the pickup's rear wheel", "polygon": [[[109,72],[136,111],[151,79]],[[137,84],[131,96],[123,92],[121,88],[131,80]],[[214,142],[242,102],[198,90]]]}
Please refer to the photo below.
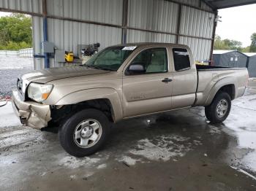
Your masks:
{"label": "bright white wet pavement right of the pickup's rear wheel", "polygon": [[256,172],[256,95],[244,95],[234,100],[224,124],[237,138],[234,155],[241,160],[240,165]]}

